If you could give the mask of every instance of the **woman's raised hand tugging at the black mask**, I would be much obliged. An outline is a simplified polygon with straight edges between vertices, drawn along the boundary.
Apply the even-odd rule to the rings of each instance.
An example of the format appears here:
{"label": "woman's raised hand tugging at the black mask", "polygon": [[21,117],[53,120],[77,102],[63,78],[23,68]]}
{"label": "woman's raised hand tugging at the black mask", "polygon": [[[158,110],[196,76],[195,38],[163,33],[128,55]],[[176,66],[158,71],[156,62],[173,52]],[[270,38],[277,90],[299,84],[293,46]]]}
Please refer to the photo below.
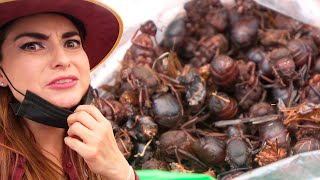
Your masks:
{"label": "woman's raised hand tugging at the black mask", "polygon": [[90,170],[108,179],[126,179],[129,164],[118,149],[111,123],[92,105],[81,105],[68,117],[65,143]]}

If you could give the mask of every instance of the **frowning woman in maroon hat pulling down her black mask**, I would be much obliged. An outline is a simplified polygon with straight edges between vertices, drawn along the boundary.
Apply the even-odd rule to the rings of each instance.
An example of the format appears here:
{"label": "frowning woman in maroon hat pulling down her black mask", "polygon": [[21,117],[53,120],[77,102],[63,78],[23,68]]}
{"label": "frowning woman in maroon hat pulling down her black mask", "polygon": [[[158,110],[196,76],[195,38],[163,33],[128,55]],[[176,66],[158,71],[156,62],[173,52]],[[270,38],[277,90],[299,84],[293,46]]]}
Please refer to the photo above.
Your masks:
{"label": "frowning woman in maroon hat pulling down her black mask", "polygon": [[[138,179],[89,99],[121,21],[94,1],[0,1],[0,178]],[[91,68],[90,68],[91,67]]]}

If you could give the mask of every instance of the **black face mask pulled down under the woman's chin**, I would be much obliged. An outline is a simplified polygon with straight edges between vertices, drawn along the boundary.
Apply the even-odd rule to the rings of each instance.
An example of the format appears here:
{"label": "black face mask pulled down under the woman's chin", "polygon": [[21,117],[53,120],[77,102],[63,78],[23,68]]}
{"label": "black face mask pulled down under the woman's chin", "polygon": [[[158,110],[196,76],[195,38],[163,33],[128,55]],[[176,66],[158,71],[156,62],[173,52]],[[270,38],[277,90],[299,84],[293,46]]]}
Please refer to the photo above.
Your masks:
{"label": "black face mask pulled down under the woman's chin", "polygon": [[[93,98],[91,90],[89,88],[86,96],[77,106],[91,102]],[[73,113],[71,110],[77,107],[75,106],[71,110],[59,108],[30,91],[26,92],[22,103],[10,103],[10,106],[16,116],[21,116],[47,126],[65,129],[68,129],[67,118]]]}

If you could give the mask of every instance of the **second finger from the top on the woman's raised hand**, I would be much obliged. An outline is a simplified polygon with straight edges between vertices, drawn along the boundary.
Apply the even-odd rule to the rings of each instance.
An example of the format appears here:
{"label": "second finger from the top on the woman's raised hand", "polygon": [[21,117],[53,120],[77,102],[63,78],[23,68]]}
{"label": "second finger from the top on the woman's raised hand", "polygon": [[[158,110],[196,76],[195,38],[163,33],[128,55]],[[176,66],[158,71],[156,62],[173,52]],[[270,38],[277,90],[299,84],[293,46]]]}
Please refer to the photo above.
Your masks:
{"label": "second finger from the top on the woman's raised hand", "polygon": [[99,123],[86,111],[78,111],[71,114],[68,117],[67,122],[69,127],[75,122],[80,122],[90,130],[93,130],[94,127],[99,125]]}

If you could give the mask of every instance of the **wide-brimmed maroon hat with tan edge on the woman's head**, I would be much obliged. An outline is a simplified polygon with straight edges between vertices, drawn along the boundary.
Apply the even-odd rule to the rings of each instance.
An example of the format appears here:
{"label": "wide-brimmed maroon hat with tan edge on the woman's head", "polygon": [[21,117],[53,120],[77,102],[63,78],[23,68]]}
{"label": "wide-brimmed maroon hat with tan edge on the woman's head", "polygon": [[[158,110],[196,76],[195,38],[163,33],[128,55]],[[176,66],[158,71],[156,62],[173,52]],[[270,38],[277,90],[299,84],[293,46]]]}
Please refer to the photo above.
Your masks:
{"label": "wide-brimmed maroon hat with tan edge on the woman's head", "polygon": [[44,12],[61,12],[82,21],[91,70],[109,56],[122,35],[119,15],[97,0],[0,0],[0,26],[18,17]]}

